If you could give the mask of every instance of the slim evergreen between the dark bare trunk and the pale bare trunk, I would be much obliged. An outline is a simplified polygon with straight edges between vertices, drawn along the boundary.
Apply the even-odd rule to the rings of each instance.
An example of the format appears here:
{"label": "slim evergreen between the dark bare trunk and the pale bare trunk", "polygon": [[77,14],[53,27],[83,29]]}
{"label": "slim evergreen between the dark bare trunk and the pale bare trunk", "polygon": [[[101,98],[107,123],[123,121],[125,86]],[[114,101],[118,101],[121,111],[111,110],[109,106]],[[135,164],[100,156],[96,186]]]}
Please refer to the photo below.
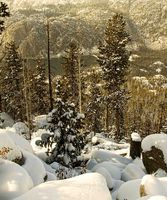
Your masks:
{"label": "slim evergreen between the dark bare trunk and the pale bare trunk", "polygon": [[67,78],[67,92],[68,101],[75,103],[78,106],[80,104],[80,49],[77,42],[70,42],[64,56],[64,71]]}

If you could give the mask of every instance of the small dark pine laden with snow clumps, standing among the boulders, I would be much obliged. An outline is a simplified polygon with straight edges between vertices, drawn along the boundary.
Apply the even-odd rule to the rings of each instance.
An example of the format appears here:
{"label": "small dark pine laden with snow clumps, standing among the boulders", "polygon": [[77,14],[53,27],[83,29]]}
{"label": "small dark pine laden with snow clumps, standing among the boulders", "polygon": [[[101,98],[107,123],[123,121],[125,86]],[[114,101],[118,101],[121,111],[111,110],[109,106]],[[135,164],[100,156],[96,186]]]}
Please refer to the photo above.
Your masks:
{"label": "small dark pine laden with snow clumps, standing among the boulders", "polygon": [[54,133],[51,140],[56,142],[52,151],[51,161],[75,167],[77,156],[84,146],[83,135],[80,129],[83,127],[84,116],[76,112],[75,105],[57,99],[55,109],[48,115],[49,129]]}

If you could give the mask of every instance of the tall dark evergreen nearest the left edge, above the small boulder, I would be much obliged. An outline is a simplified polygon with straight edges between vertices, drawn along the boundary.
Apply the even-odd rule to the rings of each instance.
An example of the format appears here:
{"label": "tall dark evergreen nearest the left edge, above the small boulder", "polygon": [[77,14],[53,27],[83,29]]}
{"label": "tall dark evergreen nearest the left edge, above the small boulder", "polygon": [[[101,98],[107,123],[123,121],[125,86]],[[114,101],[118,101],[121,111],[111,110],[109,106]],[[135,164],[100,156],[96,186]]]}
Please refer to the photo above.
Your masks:
{"label": "tall dark evergreen nearest the left edge, above the small boulder", "polygon": [[8,43],[5,47],[5,57],[1,69],[1,97],[4,111],[15,120],[23,120],[23,65],[15,43]]}

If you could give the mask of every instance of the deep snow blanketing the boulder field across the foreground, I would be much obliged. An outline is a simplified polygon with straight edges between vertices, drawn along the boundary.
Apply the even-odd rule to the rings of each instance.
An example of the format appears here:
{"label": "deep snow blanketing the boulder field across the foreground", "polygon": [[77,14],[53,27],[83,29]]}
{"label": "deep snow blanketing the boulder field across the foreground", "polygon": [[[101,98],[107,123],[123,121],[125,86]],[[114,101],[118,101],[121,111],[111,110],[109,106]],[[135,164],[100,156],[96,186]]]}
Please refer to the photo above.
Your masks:
{"label": "deep snow blanketing the boulder field across the foreground", "polygon": [[[68,169],[43,161],[46,149],[35,144],[41,132],[29,143],[16,125],[0,129],[0,200],[167,200],[166,174],[146,174],[142,160],[129,157],[129,144],[96,134],[82,155],[88,160],[86,168]],[[158,144],[165,139],[156,135]],[[156,143],[152,137],[144,148],[151,143]],[[23,165],[13,162],[21,158]]]}

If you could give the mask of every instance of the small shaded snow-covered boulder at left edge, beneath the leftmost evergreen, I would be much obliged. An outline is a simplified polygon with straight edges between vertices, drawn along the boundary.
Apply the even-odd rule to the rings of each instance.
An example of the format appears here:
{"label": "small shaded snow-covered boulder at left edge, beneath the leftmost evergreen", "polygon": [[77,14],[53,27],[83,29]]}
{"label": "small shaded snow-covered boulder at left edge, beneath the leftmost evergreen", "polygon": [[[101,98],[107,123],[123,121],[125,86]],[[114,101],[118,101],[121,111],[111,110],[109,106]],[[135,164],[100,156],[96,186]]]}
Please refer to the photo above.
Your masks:
{"label": "small shaded snow-covered boulder at left edge, beneath the leftmost evergreen", "polygon": [[0,128],[12,127],[14,120],[5,112],[0,113]]}

